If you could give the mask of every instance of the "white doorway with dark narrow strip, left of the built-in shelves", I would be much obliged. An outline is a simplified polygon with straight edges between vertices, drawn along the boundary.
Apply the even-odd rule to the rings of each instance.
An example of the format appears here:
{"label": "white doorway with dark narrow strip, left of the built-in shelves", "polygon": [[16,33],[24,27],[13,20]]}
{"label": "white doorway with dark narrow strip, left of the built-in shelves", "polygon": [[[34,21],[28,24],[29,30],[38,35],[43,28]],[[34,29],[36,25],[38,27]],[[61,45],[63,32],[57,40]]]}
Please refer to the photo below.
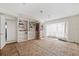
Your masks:
{"label": "white doorway with dark narrow strip, left of the built-in shelves", "polygon": [[5,38],[6,43],[17,42],[17,23],[16,20],[6,20]]}

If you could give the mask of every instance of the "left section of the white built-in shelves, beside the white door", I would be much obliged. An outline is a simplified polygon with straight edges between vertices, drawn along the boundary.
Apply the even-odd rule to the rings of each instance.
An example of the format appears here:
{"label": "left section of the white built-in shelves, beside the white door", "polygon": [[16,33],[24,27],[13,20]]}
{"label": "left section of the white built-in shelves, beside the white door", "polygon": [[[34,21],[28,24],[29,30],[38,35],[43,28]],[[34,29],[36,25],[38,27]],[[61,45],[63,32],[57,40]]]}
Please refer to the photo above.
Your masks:
{"label": "left section of the white built-in shelves, beside the white door", "polygon": [[28,40],[28,20],[18,19],[17,21],[17,39],[18,42]]}

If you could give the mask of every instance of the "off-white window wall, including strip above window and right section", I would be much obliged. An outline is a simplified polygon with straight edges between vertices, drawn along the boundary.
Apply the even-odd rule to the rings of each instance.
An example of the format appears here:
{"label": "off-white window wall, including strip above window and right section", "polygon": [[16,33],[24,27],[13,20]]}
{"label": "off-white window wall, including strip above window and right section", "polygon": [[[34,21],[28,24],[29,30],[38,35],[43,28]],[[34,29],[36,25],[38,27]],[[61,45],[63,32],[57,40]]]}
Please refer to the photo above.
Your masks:
{"label": "off-white window wall, including strip above window and right section", "polygon": [[[69,16],[61,19],[51,20],[46,22],[45,25],[57,22],[66,22],[66,39],[70,42],[79,43],[79,15]],[[67,32],[68,31],[68,32]]]}

